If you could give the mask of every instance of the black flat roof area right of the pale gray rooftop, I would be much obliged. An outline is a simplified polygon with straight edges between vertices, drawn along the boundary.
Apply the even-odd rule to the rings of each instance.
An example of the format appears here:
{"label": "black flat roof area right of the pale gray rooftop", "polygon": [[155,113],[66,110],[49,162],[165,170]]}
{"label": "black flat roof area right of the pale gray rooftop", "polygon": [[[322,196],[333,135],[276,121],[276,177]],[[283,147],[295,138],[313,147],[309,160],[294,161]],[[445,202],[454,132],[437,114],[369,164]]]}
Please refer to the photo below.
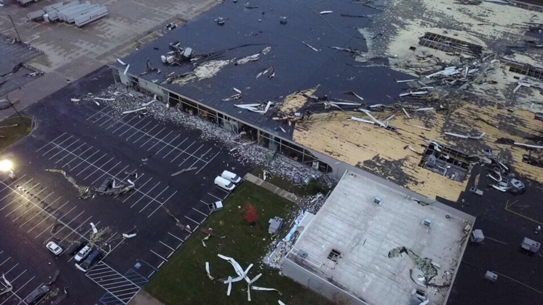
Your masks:
{"label": "black flat roof area right of the pale gray rooftop", "polygon": [[[527,237],[543,242],[543,190],[538,182],[520,179],[526,183],[523,194],[503,193],[489,187],[487,170],[473,167],[468,186],[483,190],[478,196],[466,191],[458,202],[438,200],[477,217],[474,229],[485,236],[479,245],[468,244],[460,262],[447,305],[465,304],[540,304],[543,300],[543,254],[529,256],[519,251]],[[484,279],[487,271],[498,275],[495,283]]]}

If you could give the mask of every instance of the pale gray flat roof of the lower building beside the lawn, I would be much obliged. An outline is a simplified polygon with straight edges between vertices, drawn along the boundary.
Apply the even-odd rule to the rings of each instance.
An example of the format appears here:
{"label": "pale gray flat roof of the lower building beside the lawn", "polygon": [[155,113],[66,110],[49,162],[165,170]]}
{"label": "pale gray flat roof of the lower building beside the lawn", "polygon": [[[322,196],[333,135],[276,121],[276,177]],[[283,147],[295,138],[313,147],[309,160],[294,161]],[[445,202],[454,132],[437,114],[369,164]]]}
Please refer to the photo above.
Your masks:
{"label": "pale gray flat roof of the lower building beside the lawn", "polygon": [[[381,205],[374,203],[376,197]],[[430,304],[443,304],[472,218],[442,209],[439,202],[424,206],[413,199],[401,188],[347,171],[287,259],[368,304],[409,304],[413,288],[425,291]],[[421,224],[423,219],[432,221],[431,228]],[[397,247],[405,251],[389,257]],[[306,259],[297,255],[300,250],[307,252]],[[340,253],[337,262],[329,259],[332,250]],[[428,283],[446,287],[425,288],[419,279],[425,275]]]}

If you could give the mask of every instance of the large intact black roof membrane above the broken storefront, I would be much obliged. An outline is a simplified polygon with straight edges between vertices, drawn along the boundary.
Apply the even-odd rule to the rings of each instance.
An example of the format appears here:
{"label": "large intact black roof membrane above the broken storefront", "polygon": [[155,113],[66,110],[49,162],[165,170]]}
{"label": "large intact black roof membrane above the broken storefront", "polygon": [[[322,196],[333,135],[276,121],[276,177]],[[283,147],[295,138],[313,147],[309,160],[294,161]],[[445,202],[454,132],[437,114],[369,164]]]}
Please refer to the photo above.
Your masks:
{"label": "large intact black roof membrane above the broken storefront", "polygon": [[[324,10],[333,12],[319,14]],[[174,72],[180,75],[193,68],[190,63],[182,66],[162,63],[160,56],[170,51],[168,45],[171,42],[179,41],[180,47],[191,47],[195,55],[217,52],[210,57],[228,60],[240,59],[271,47],[270,52],[261,55],[257,61],[243,65],[230,63],[211,78],[189,81],[185,85],[160,86],[272,134],[292,139],[294,126],[272,120],[273,112],[262,115],[233,105],[281,101],[288,94],[317,85],[320,85],[315,93],[317,96],[326,94],[330,98],[359,101],[344,94],[344,91],[353,91],[362,96],[368,105],[393,104],[399,100],[398,94],[403,92],[402,89],[406,88],[405,83],[396,83],[394,79],[410,78],[386,67],[361,67],[364,63],[355,61],[351,53],[330,48],[365,51],[367,45],[364,39],[374,39],[363,37],[358,31],[358,28],[371,22],[371,17],[346,17],[341,14],[361,16],[380,14],[380,11],[362,3],[331,0],[316,4],[307,0],[251,1],[249,4],[228,0],[122,60],[130,64],[129,74],[139,75],[145,71],[149,58],[151,66],[159,68],[161,73],[148,73],[142,78],[148,81],[159,79],[156,82],[159,85],[168,74]],[[280,24],[281,16],[287,17],[286,24]],[[217,24],[217,17],[225,18],[224,26]],[[302,42],[318,49],[318,52]],[[406,52],[410,51],[406,49]],[[124,69],[118,62],[114,66]],[[270,66],[274,68],[275,78],[256,78],[259,72]],[[233,87],[243,92],[243,98],[222,101],[236,94]],[[279,126],[287,131],[286,134]]]}

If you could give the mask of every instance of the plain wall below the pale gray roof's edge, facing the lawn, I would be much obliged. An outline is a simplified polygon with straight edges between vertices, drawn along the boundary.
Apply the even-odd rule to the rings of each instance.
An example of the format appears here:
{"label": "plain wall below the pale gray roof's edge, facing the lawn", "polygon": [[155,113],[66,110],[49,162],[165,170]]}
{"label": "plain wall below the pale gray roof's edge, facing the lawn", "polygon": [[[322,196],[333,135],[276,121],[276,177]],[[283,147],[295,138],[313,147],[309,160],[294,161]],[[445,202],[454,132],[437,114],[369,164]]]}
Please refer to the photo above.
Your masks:
{"label": "plain wall below the pale gray roof's edge, facing the lawn", "polygon": [[[368,303],[359,300],[357,297],[346,293],[336,285],[326,281],[326,279],[318,277],[312,272],[302,268],[291,259],[283,259],[283,275],[288,276],[294,281],[304,285],[305,287],[316,291],[330,300],[348,301],[349,305],[368,305]],[[344,304],[344,303],[341,303]]]}

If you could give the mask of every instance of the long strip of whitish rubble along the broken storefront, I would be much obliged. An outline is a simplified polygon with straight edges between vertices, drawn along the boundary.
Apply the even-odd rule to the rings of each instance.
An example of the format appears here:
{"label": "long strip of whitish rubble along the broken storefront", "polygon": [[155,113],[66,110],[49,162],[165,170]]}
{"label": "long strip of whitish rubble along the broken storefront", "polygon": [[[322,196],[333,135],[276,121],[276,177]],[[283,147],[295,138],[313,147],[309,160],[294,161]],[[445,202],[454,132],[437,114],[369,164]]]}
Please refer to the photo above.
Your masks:
{"label": "long strip of whitish rubble along the broken storefront", "polygon": [[241,139],[242,135],[233,134],[231,131],[225,130],[212,122],[184,113],[176,107],[166,107],[161,102],[149,104],[149,101],[155,100],[156,97],[147,97],[142,93],[127,90],[124,85],[112,85],[97,94],[89,94],[78,98],[81,99],[80,103],[88,101],[93,103],[93,100],[96,99],[102,101],[104,107],[107,105],[113,108],[114,111],[110,113],[113,117],[120,118],[124,116],[123,112],[130,113],[138,110],[134,113],[151,116],[162,122],[178,123],[185,128],[197,129],[201,131],[201,138],[220,141],[231,148],[230,153],[238,158],[238,161],[243,165],[251,164],[252,166],[267,167],[272,175],[287,177],[294,184],[306,184],[312,178],[323,186],[335,184],[331,177],[285,155],[275,154],[273,160],[269,161],[267,156],[273,154],[273,151],[252,144],[252,142],[244,142]]}

